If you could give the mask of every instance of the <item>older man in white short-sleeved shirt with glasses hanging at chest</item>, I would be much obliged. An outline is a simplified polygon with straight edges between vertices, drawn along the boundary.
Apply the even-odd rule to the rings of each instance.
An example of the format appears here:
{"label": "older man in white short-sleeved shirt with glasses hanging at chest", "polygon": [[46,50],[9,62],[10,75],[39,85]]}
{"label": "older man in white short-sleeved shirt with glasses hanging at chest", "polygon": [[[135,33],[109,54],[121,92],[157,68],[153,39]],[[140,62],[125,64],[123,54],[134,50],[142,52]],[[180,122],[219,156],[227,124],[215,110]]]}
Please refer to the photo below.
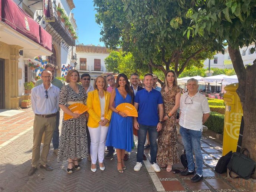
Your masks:
{"label": "older man in white short-sleeved shirt with glasses hanging at chest", "polygon": [[[187,93],[180,98],[180,135],[186,149],[188,169],[181,171],[181,175],[194,175],[191,182],[203,179],[203,156],[201,152],[201,136],[203,124],[210,116],[208,100],[198,92],[198,81],[194,78],[187,81]],[[197,171],[193,160],[196,157]]]}

